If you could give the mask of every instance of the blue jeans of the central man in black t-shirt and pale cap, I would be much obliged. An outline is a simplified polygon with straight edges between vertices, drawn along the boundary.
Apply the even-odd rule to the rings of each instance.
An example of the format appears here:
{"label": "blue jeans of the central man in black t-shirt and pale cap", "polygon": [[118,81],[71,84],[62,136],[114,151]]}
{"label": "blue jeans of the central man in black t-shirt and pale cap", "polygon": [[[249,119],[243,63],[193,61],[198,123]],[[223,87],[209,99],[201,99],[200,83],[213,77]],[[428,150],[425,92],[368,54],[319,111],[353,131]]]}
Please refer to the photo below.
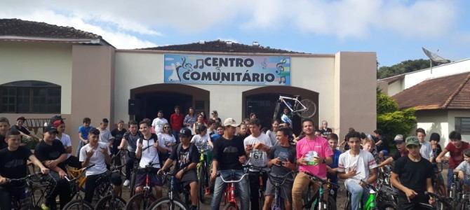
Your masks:
{"label": "blue jeans of the central man in black t-shirt and pale cap", "polygon": [[[224,177],[225,181],[229,180],[239,180],[243,176],[243,170],[223,170],[220,171],[220,176]],[[220,176],[217,176],[215,179],[214,194],[212,200],[210,201],[210,209],[218,210],[220,207],[220,199],[224,193],[225,186],[227,183],[224,183]],[[250,209],[250,195],[248,194],[248,179],[245,177],[239,183],[235,184],[237,190],[236,194],[240,195],[241,210]]]}

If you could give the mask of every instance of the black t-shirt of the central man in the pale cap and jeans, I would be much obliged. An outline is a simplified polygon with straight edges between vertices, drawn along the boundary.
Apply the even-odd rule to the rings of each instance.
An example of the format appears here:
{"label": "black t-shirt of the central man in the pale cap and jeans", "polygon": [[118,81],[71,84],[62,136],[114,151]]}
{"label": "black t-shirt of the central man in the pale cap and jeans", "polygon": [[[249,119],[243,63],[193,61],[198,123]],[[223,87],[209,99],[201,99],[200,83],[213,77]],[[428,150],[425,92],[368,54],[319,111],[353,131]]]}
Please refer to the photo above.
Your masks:
{"label": "black t-shirt of the central man in the pale cap and jeans", "polygon": [[219,163],[219,170],[241,169],[239,157],[245,154],[243,148],[243,139],[234,137],[231,140],[225,139],[223,136],[214,143],[213,158]]}

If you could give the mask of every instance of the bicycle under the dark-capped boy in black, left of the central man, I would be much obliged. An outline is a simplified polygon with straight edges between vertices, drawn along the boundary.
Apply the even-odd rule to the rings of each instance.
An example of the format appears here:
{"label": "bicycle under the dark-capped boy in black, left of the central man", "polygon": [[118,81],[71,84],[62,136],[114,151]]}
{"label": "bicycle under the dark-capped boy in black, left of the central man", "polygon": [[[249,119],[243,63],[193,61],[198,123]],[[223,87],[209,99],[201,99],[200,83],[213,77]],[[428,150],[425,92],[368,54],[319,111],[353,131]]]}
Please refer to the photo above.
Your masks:
{"label": "bicycle under the dark-capped boy in black, left of the central man", "polygon": [[[191,204],[191,200],[189,199],[189,196],[190,196],[189,190],[187,190],[187,188],[184,188],[184,186],[181,186],[180,183],[177,183],[175,174],[170,173],[170,172],[164,172],[162,179],[164,181],[167,181],[167,180],[170,181],[170,186],[168,189],[168,197],[161,197],[159,200],[156,200],[155,202],[153,202],[148,209],[149,210],[167,210],[167,209],[168,210],[187,210],[189,209],[188,204]],[[183,189],[181,192],[183,194],[182,196],[183,200],[181,200],[180,197],[178,196],[180,193],[178,189]]]}

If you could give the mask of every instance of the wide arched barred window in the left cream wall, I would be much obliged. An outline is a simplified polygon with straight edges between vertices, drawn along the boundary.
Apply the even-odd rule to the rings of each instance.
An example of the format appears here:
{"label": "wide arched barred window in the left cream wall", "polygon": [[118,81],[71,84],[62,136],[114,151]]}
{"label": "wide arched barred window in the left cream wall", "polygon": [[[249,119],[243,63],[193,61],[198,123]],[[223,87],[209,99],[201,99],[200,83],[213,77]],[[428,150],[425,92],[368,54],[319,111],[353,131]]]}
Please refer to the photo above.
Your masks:
{"label": "wide arched barred window in the left cream wall", "polygon": [[36,80],[0,85],[0,113],[60,113],[60,85]]}

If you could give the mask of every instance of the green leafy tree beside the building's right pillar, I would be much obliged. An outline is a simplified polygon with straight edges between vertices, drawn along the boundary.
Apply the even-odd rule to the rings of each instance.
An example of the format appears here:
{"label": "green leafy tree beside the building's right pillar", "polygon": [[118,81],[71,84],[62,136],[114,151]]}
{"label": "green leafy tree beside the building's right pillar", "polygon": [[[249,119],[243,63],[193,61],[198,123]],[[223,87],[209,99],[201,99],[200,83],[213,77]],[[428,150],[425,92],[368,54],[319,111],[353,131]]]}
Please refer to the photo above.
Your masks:
{"label": "green leafy tree beside the building's right pillar", "polygon": [[[382,130],[388,139],[396,134],[406,137],[416,125],[415,109],[398,109],[398,104],[387,94],[377,90],[377,129]],[[389,141],[389,148],[394,144]]]}

